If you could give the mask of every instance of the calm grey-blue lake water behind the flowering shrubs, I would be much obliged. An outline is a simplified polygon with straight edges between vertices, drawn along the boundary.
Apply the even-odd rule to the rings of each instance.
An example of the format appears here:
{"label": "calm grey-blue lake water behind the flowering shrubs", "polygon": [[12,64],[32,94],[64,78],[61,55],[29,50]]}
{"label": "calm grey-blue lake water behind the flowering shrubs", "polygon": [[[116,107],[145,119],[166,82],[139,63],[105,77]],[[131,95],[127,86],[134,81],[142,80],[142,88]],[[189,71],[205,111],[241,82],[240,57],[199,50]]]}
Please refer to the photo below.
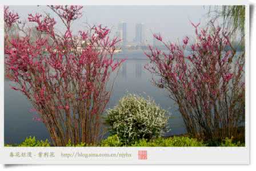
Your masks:
{"label": "calm grey-blue lake water behind the flowering shrubs", "polygon": [[[128,59],[119,70],[107,108],[113,108],[127,93],[150,96],[155,103],[171,114],[169,120],[171,130],[166,136],[186,133],[177,105],[169,98],[166,91],[151,83],[151,74],[144,68],[149,60],[146,59],[143,51],[126,51],[115,56]],[[11,89],[11,84],[9,80],[5,80],[5,143],[21,143],[28,136],[35,136],[39,140],[51,140],[45,125],[33,120],[36,113],[30,111],[33,108],[30,101],[21,92]]]}

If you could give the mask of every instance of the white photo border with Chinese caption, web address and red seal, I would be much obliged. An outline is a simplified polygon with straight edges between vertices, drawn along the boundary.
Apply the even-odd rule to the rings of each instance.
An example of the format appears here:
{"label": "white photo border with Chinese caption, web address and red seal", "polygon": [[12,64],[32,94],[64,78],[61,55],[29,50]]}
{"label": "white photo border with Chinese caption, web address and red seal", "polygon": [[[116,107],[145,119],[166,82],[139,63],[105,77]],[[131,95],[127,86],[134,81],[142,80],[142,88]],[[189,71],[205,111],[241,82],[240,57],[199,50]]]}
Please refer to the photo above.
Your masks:
{"label": "white photo border with Chinese caption, web address and red seal", "polygon": [[[80,1],[71,1],[73,5]],[[249,2],[228,1],[82,1],[83,5],[246,5],[245,55],[245,146],[244,147],[5,147],[4,146],[4,52],[3,5],[0,6],[0,162],[2,164],[250,164],[250,18]],[[70,5],[70,1],[44,1],[46,4]],[[30,1],[6,1],[5,5],[33,5]],[[43,4],[43,5],[46,5]],[[38,5],[38,4],[35,4]],[[147,160],[138,160],[138,150],[147,150]],[[31,152],[32,157],[12,158],[10,153]],[[39,158],[37,153],[55,153],[53,158]],[[63,157],[63,154],[70,157]],[[101,154],[101,157],[78,157]],[[113,154],[113,155],[112,155]],[[34,156],[35,155],[35,156]],[[110,156],[109,156],[110,155]],[[111,157],[112,155],[112,157]],[[114,157],[113,157],[114,156]],[[115,157],[119,156],[119,157]],[[120,157],[121,156],[121,157]]]}

